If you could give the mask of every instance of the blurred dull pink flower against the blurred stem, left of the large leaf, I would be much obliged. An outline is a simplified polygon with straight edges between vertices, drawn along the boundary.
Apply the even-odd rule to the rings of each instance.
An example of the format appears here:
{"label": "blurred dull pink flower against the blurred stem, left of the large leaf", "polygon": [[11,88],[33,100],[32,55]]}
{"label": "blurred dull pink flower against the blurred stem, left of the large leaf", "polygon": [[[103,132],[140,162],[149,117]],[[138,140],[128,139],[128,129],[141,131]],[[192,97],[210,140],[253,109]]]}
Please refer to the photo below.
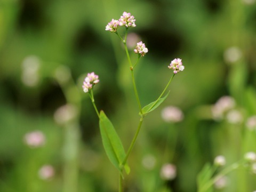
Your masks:
{"label": "blurred dull pink flower against the blurred stem, left of the large leaf", "polygon": [[60,125],[66,124],[77,116],[77,108],[67,104],[58,108],[54,113],[54,120]]}

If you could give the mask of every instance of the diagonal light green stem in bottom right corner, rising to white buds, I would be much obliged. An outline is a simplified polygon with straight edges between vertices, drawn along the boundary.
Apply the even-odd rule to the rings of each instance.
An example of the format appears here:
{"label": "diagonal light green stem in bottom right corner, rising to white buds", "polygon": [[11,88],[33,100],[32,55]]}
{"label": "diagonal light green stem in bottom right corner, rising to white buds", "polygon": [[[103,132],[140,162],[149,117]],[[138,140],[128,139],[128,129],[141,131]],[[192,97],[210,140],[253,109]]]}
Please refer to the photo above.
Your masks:
{"label": "diagonal light green stem in bottom right corner, rising to white buds", "polygon": [[234,163],[228,167],[226,167],[226,169],[223,169],[219,174],[217,174],[215,177],[213,177],[209,182],[207,182],[201,190],[199,190],[199,192],[204,192],[207,191],[207,189],[209,189],[216,181],[218,181],[220,178],[222,178],[223,176],[225,176],[226,174],[228,174],[229,172],[236,170],[239,166],[241,166],[243,164],[244,160],[241,162],[237,162]]}

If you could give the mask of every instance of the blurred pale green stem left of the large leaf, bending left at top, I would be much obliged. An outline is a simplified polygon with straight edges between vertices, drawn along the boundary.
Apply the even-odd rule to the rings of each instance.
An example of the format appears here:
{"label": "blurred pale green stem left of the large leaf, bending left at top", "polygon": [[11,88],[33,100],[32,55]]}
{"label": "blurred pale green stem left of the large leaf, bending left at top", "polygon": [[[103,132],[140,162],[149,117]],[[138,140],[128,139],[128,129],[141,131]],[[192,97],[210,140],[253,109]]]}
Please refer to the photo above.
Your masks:
{"label": "blurred pale green stem left of the large leaf, bending left at top", "polygon": [[[59,75],[58,75],[59,74]],[[72,106],[74,110],[68,111],[71,118],[63,122],[63,192],[76,192],[78,187],[78,155],[81,132],[79,130],[79,115],[81,111],[81,97],[77,86],[69,69],[59,67],[55,75],[63,94],[67,100],[67,105]],[[61,77],[65,77],[64,79]],[[67,78],[69,77],[69,78]]]}

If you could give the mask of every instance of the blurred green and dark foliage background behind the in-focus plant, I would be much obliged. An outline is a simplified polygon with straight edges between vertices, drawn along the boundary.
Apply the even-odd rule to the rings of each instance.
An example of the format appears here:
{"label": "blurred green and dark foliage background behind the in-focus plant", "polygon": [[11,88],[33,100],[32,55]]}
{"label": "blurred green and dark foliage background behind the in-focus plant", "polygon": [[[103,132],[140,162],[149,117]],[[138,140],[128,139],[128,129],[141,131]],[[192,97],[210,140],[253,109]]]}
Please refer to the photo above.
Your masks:
{"label": "blurred green and dark foliage background behind the in-focus plant", "polygon": [[[231,164],[256,151],[256,133],[245,126],[256,114],[255,1],[1,0],[1,192],[117,191],[118,172],[103,150],[98,117],[82,82],[91,71],[99,75],[95,101],[127,150],[138,107],[123,46],[105,31],[124,11],[136,19],[129,33],[149,50],[135,71],[143,106],[169,81],[171,60],[181,58],[185,66],[169,97],[145,118],[125,191],[196,191],[196,175],[206,162],[221,154]],[[137,55],[131,55],[135,61]],[[211,105],[223,95],[235,99],[243,115],[238,124],[212,118]],[[71,115],[60,112],[58,122],[56,111],[67,103],[75,109]],[[179,107],[183,121],[163,121],[166,106]],[[45,142],[29,147],[25,135],[37,130]],[[171,181],[160,177],[164,163],[177,168]],[[54,170],[50,179],[38,173],[44,165]],[[250,171],[239,170],[225,188],[214,190],[253,191],[255,180]]]}

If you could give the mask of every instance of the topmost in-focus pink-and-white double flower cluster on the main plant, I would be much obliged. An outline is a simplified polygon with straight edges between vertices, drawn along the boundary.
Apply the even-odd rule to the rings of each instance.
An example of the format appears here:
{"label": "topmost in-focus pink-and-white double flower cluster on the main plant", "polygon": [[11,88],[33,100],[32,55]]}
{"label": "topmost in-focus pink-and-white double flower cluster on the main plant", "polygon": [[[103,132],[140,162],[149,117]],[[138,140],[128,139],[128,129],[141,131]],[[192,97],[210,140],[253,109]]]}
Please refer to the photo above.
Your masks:
{"label": "topmost in-focus pink-and-white double flower cluster on the main plant", "polygon": [[126,28],[136,27],[134,16],[131,13],[124,12],[119,20],[112,19],[105,30],[116,32],[119,26],[125,26]]}

